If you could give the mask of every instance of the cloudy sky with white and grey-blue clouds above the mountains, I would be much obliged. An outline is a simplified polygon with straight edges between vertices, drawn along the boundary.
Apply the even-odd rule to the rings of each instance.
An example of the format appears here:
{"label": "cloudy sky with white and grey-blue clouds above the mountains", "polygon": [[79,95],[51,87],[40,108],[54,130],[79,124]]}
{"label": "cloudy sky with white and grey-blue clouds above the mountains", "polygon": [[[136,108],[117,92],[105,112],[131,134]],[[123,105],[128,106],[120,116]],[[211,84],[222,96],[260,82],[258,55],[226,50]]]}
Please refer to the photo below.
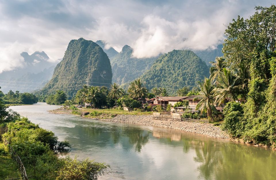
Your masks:
{"label": "cloudy sky with white and grey-blue clouds above the mountains", "polygon": [[271,0],[0,0],[0,73],[22,67],[20,53],[64,56],[72,39],[106,41],[118,52],[154,57],[173,49],[214,49],[226,25]]}

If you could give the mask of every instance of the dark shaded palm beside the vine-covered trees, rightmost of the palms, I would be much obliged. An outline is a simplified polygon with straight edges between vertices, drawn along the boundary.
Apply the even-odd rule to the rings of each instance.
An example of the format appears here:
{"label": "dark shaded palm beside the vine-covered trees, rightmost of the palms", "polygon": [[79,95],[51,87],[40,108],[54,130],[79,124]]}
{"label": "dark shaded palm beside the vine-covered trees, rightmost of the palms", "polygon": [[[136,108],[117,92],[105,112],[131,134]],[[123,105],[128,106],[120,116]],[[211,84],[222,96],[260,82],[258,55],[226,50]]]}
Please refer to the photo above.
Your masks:
{"label": "dark shaded palm beside the vine-covered trees, rightmost of the palms", "polygon": [[249,68],[246,65],[240,64],[237,69],[237,82],[238,87],[244,96],[244,102],[246,102],[246,94],[248,94],[248,83],[250,81]]}

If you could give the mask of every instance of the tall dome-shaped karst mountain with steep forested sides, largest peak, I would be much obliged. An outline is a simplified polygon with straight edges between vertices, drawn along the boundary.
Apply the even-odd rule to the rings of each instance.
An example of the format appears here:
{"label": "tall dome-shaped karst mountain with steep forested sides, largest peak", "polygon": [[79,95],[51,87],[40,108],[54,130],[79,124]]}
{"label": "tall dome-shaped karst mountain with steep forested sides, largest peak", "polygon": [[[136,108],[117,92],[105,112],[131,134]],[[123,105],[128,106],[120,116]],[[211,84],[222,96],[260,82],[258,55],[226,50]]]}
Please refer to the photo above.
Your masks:
{"label": "tall dome-shaped karst mountain with steep forested sides, largest peak", "polygon": [[52,94],[60,89],[70,98],[83,84],[109,86],[111,80],[110,61],[103,49],[91,40],[79,38],[69,42],[62,61],[41,94]]}

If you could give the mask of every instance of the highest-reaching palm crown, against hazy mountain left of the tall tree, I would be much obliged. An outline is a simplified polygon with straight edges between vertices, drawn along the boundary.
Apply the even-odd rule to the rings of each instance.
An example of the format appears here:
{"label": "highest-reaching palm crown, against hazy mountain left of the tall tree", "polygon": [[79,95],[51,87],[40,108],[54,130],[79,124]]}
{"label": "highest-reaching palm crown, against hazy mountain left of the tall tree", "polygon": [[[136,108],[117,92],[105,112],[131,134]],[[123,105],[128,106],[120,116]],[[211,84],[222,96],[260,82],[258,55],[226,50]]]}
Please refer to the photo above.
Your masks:
{"label": "highest-reaching palm crown, against hazy mountain left of the tall tree", "polygon": [[215,80],[219,74],[222,72],[222,69],[226,67],[225,59],[223,57],[216,57],[215,62],[210,62],[210,79]]}

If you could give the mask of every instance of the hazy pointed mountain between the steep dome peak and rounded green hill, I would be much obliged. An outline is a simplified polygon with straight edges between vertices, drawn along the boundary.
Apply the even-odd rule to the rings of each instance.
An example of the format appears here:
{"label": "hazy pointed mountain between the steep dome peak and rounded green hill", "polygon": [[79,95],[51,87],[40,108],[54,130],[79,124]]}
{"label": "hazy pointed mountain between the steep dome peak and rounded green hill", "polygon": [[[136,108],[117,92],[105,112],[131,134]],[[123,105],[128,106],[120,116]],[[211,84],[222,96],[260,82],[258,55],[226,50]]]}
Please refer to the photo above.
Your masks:
{"label": "hazy pointed mountain between the steep dome peak and rounded green hill", "polygon": [[124,84],[131,82],[150,69],[157,57],[138,59],[132,57],[133,49],[125,45],[122,51],[110,59],[112,66],[112,82]]}

